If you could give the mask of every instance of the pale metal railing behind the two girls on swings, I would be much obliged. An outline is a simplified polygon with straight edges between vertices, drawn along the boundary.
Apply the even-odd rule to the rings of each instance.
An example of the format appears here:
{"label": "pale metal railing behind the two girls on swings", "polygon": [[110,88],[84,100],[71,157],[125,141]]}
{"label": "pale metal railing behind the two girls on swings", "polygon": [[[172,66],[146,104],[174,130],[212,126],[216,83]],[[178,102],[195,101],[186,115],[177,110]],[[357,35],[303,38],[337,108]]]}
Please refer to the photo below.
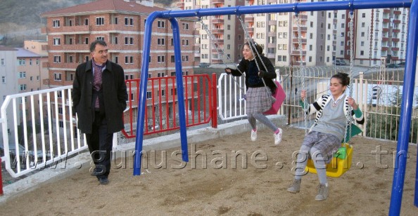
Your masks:
{"label": "pale metal railing behind the two girls on swings", "polygon": [[[301,79],[305,79],[309,102],[313,102],[319,95],[327,93],[329,79],[337,72],[348,73],[348,67],[285,67],[278,74],[281,86],[286,93],[286,99],[279,109],[279,114],[286,116],[289,125],[305,128],[303,111],[300,108]],[[400,119],[400,100],[402,100],[403,69],[383,71],[379,68],[355,69],[353,74],[353,98],[359,104],[365,115],[362,126],[363,136],[384,139],[398,139],[398,121]],[[245,90],[243,78],[236,77],[238,83]],[[246,117],[245,100],[240,99],[239,84],[232,76],[222,74],[218,79],[218,115],[222,120]],[[377,90],[376,90],[377,89]],[[415,90],[418,95],[418,90]],[[414,99],[414,106],[418,107],[418,98]],[[315,116],[308,116],[308,127]],[[418,142],[418,109],[412,113],[410,143]]]}

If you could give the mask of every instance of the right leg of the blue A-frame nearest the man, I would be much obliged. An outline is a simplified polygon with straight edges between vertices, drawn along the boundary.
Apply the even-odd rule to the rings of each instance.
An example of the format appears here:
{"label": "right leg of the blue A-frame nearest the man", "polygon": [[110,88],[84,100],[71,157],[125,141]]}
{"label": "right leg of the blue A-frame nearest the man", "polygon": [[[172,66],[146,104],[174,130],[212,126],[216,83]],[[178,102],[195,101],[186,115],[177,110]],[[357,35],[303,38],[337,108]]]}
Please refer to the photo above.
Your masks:
{"label": "right leg of the blue A-frame nearest the man", "polygon": [[180,31],[179,23],[175,18],[170,18],[172,27],[172,37],[175,46],[175,65],[176,65],[176,83],[177,83],[177,104],[179,104],[179,126],[180,140],[182,142],[182,159],[189,161],[189,151],[187,150],[186,135],[186,114],[184,113],[184,89],[183,89],[183,72],[182,72],[182,51],[180,50]]}

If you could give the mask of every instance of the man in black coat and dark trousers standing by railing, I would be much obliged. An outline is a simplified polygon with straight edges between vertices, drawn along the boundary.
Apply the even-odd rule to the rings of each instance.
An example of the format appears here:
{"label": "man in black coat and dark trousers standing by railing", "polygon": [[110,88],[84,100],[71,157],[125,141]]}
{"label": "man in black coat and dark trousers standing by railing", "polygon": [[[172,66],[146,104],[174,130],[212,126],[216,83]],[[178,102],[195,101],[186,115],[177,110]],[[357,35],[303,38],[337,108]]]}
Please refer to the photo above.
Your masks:
{"label": "man in black coat and dark trousers standing by railing", "polygon": [[127,107],[125,74],[120,65],[108,60],[105,41],[90,45],[91,60],[78,65],[72,83],[73,110],[77,127],[86,134],[95,168],[91,175],[108,184],[113,133],[123,129],[122,114]]}

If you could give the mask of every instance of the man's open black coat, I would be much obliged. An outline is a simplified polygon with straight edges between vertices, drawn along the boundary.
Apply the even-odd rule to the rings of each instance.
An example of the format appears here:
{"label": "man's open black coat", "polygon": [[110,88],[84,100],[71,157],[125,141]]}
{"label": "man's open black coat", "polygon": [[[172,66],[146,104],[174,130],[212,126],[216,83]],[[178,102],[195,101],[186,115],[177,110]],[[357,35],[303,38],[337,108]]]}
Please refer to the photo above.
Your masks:
{"label": "man's open black coat", "polygon": [[[77,112],[77,127],[82,133],[91,133],[93,125],[94,107],[93,70],[91,60],[78,65],[75,79],[72,83],[72,112]],[[127,107],[127,87],[125,74],[120,65],[106,62],[102,74],[103,102],[108,125],[108,133],[116,133],[123,127],[123,111]],[[74,113],[75,114],[75,113]]]}

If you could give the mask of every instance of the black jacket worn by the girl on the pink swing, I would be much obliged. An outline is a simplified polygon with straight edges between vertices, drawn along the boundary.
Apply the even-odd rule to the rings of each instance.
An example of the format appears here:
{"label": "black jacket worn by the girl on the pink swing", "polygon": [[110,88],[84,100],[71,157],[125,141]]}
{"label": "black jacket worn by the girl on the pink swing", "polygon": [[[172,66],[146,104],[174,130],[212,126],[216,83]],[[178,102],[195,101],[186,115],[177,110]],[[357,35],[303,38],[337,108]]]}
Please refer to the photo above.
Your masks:
{"label": "black jacket worn by the girl on the pink swing", "polygon": [[[265,72],[263,78],[264,78],[266,86],[269,87],[270,90],[272,91],[272,94],[274,94],[277,88],[276,84],[273,81],[273,79],[277,77],[276,72],[274,71],[274,66],[272,65],[272,62],[270,62],[270,60],[267,57],[265,57],[264,55],[260,55],[260,56],[261,56],[261,60],[260,60],[260,57],[258,56],[255,57],[255,60],[258,63],[258,67],[260,67],[260,71]],[[262,62],[264,62],[265,67],[267,67],[267,72],[265,71],[266,69],[262,65]],[[249,60],[242,58],[241,62],[239,62],[239,65],[236,67],[237,69],[231,69],[232,76],[241,76],[242,75],[241,72],[247,73],[249,63],[250,63]],[[239,72],[238,69],[241,72]],[[246,88],[248,90],[248,76],[246,76]]]}

